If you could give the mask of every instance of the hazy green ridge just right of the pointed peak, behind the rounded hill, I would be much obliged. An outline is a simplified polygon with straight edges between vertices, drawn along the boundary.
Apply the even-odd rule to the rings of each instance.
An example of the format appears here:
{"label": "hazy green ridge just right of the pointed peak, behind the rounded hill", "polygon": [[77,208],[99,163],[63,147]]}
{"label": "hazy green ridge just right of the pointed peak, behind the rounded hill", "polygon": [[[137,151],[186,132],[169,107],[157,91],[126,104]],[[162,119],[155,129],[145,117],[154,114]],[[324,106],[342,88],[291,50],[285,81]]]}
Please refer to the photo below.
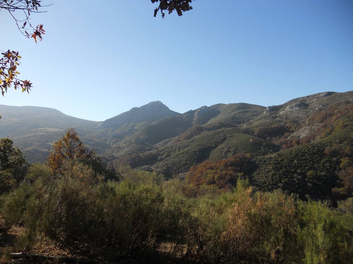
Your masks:
{"label": "hazy green ridge just right of the pointed peak, behind the rounded hill", "polygon": [[[145,126],[131,136],[122,139],[115,145],[118,152],[113,155],[121,156],[125,153],[141,153],[140,149],[131,148],[129,142],[144,142],[155,145],[164,140],[171,139],[190,132],[189,129],[203,126],[207,131],[223,127],[238,127],[254,117],[263,113],[265,107],[250,105],[247,103],[230,103],[202,106],[195,110],[187,111],[184,114],[175,117],[168,117],[157,120],[154,123]],[[124,150],[127,148],[128,150]]]}

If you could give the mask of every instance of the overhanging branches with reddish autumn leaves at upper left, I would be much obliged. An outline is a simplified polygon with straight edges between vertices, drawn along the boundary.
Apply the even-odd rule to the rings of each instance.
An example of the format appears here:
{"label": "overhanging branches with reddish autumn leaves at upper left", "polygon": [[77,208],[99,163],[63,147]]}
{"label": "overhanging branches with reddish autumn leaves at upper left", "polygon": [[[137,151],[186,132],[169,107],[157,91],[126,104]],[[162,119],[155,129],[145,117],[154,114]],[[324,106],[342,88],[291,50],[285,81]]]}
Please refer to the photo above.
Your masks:
{"label": "overhanging branches with reddish autumn leaves at upper left", "polygon": [[[42,34],[45,34],[43,25],[32,26],[30,23],[30,16],[32,13],[42,13],[46,11],[38,11],[38,8],[43,7],[41,0],[0,0],[0,11],[10,13],[15,20],[19,31],[27,38],[42,40]],[[48,5],[47,5],[48,6]],[[18,16],[21,14],[22,17]],[[23,24],[22,24],[23,23]],[[33,33],[28,33],[27,30],[33,30]],[[7,89],[13,86],[16,89],[21,88],[22,92],[30,91],[32,83],[28,80],[20,80],[17,71],[17,66],[20,65],[20,58],[18,51],[1,51],[2,58],[0,58],[0,88],[2,96],[7,92]]]}

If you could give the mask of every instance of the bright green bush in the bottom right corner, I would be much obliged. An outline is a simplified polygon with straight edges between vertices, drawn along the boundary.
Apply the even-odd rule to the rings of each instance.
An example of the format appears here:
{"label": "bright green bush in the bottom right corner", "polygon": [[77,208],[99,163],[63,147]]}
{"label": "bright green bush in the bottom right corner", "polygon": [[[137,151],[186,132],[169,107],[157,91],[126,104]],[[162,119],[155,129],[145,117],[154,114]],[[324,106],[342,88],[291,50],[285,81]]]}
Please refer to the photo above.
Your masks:
{"label": "bright green bush in the bottom right corner", "polygon": [[[352,230],[343,225],[342,215],[327,203],[298,202],[298,243],[304,263],[349,263],[353,257]],[[352,221],[352,219],[351,219]]]}

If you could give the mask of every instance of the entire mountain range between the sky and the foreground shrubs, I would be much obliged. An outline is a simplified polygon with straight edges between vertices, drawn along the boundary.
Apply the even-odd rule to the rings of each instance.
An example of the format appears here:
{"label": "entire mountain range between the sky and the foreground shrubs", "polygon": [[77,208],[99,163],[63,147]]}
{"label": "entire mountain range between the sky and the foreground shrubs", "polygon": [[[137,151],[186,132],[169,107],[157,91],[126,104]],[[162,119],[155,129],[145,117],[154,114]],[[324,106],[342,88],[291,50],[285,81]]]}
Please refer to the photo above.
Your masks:
{"label": "entire mountain range between the sky and the foreground shrubs", "polygon": [[254,188],[320,199],[331,197],[342,177],[346,156],[336,149],[349,152],[353,142],[353,91],[268,107],[219,103],[183,114],[154,101],[103,122],[44,107],[0,106],[0,114],[0,137],[13,139],[30,162],[44,161],[51,144],[76,127],[110,168],[130,165],[170,178],[203,161],[247,153],[255,162],[248,175]]}

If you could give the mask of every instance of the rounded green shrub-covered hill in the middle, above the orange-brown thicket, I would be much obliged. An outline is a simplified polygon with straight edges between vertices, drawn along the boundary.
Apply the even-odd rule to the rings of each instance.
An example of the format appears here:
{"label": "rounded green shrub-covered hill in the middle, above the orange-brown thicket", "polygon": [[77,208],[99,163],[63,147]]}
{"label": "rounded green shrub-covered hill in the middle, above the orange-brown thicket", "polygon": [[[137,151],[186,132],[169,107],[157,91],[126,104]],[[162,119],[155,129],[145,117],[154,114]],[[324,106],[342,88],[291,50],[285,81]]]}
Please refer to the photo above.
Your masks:
{"label": "rounded green shrub-covered hill in the middle, above the orange-brown thicket", "polygon": [[207,159],[219,160],[238,153],[264,155],[280,150],[280,147],[255,138],[240,128],[221,128],[204,132],[198,136],[177,143],[171,143],[154,151],[159,159],[153,167],[164,176],[186,172],[192,165]]}

